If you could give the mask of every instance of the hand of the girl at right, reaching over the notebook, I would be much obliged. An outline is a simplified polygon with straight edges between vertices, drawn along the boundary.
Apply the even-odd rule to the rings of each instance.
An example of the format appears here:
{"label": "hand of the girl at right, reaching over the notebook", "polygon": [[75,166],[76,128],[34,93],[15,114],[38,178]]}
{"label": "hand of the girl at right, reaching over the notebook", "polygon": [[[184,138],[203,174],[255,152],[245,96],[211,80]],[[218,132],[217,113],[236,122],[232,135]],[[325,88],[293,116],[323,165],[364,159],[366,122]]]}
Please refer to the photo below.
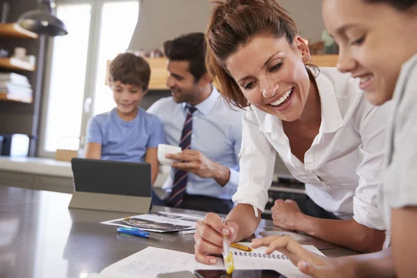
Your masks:
{"label": "hand of the girl at right, reaching over the notebook", "polygon": [[291,236],[269,236],[255,238],[251,247],[266,246],[267,254],[275,250],[288,256],[291,262],[306,275],[315,278],[353,278],[355,275],[354,261],[350,257],[327,258],[305,250]]}

